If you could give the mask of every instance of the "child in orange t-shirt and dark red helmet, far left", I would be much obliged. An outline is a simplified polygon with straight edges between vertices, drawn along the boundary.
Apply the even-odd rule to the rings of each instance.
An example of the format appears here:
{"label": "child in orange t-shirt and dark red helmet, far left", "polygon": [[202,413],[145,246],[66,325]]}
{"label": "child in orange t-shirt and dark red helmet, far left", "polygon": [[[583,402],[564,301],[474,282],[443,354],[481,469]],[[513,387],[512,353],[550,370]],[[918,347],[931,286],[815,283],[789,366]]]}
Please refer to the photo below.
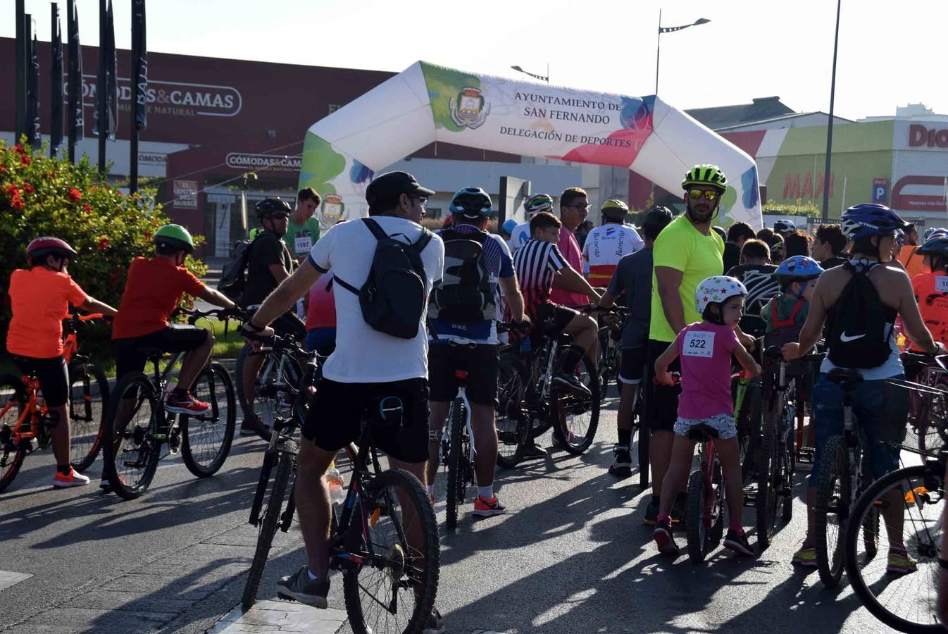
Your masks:
{"label": "child in orange t-shirt and dark red helmet, far left", "polygon": [[52,428],[56,475],[53,486],[82,486],[89,479],[69,464],[69,377],[63,357],[63,319],[69,304],[82,310],[115,316],[116,309],[86,295],[66,271],[76,251],[59,238],[37,238],[27,246],[30,268],[16,269],[9,278],[13,317],[7,351],[24,374],[36,374]]}

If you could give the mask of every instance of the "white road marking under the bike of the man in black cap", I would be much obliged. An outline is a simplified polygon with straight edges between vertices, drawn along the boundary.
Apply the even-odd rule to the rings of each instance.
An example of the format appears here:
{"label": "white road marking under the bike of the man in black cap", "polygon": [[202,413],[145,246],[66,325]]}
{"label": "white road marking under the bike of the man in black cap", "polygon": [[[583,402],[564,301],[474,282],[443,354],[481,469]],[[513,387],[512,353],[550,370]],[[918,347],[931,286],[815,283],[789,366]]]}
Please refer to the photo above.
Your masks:
{"label": "white road marking under the bike of the man in black cap", "polygon": [[345,623],[345,610],[318,609],[292,601],[258,601],[250,609],[237,604],[206,634],[237,634],[238,632],[305,631],[310,634],[335,634]]}

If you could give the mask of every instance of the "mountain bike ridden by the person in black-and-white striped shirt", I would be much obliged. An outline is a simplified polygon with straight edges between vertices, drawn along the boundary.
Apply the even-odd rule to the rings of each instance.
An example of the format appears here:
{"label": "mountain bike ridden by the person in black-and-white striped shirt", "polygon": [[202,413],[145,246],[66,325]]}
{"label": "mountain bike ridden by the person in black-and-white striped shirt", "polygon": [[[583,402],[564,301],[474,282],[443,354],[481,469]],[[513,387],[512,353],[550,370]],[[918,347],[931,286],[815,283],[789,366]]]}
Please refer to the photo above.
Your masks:
{"label": "mountain bike ridden by the person in black-and-white striped shirt", "polygon": [[[590,314],[600,310],[594,304],[574,307]],[[523,341],[529,341],[524,339]],[[580,455],[593,444],[599,426],[599,380],[593,361],[583,357],[577,369],[589,394],[577,395],[556,386],[553,376],[559,367],[559,353],[570,345],[572,337],[539,336],[532,350],[516,352],[518,344],[501,349],[497,435],[498,464],[512,468],[520,463],[523,450],[531,441],[556,423],[554,433],[563,448]]]}

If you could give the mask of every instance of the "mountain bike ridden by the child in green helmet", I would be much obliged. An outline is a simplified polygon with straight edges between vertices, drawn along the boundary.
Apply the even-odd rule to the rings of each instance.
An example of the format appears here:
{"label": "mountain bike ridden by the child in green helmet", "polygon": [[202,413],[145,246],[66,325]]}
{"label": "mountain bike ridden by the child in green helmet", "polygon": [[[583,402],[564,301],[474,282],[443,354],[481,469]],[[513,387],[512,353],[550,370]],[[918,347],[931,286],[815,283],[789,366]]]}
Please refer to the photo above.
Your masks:
{"label": "mountain bike ridden by the child in green helmet", "polygon": [[[188,311],[193,325],[204,317],[225,317],[226,309]],[[233,382],[227,369],[215,361],[198,374],[191,394],[210,404],[204,414],[174,414],[165,409],[169,377],[187,353],[174,353],[165,369],[159,367],[164,353],[143,348],[141,353],[155,368],[154,378],[130,372],[118,379],[115,398],[105,414],[104,476],[119,498],[139,498],[155,478],[158,461],[179,451],[188,470],[198,478],[214,475],[227,460],[237,420]],[[167,444],[167,453],[162,446]]]}

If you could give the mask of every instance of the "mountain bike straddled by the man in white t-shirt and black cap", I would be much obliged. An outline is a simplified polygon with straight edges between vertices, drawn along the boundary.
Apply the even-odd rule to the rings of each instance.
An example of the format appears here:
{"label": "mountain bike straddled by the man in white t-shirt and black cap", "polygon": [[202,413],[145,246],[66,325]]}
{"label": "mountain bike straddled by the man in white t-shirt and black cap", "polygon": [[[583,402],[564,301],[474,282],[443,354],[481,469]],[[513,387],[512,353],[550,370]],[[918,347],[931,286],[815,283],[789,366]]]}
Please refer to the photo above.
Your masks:
{"label": "mountain bike straddled by the man in white t-shirt and black cap", "polygon": [[[295,402],[299,398],[298,394]],[[401,400],[395,397],[377,399],[365,408],[349,487],[342,503],[333,508],[329,567],[342,572],[346,613],[357,634],[421,632],[437,592],[438,528],[428,492],[407,471],[382,471],[372,446],[371,426],[399,425],[402,415]],[[294,407],[296,425],[301,424],[300,416],[301,409]],[[289,477],[296,446],[290,439],[281,442],[280,436],[271,436],[271,446],[280,456],[254,557],[254,569],[259,571],[251,570],[256,584],[269,551],[268,543],[262,550],[260,540],[272,539],[278,521],[288,527],[293,513],[292,502],[282,513],[281,507],[287,487],[288,499],[293,499]],[[252,605],[255,595],[256,588],[248,582],[244,605]]]}

